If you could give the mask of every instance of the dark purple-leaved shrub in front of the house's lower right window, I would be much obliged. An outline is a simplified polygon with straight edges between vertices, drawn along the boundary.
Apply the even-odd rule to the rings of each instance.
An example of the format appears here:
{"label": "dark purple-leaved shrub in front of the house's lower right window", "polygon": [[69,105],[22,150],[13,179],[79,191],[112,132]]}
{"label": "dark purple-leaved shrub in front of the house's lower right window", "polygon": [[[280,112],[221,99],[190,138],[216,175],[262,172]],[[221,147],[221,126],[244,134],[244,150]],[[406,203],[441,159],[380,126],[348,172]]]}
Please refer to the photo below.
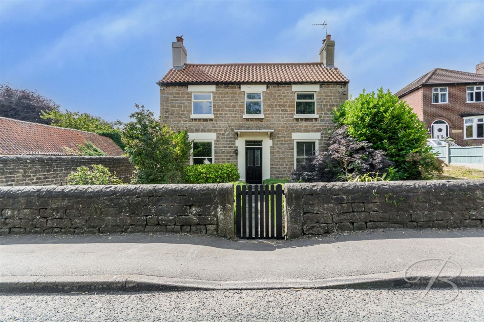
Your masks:
{"label": "dark purple-leaved shrub in front of the house's lower right window", "polygon": [[[314,158],[307,158],[294,171],[293,181],[332,182],[354,181],[371,177],[372,173],[391,172],[385,152],[375,149],[367,141],[357,141],[347,133],[347,126],[336,128],[330,138],[329,147]],[[390,169],[390,170],[389,170]],[[369,175],[370,174],[370,175]]]}

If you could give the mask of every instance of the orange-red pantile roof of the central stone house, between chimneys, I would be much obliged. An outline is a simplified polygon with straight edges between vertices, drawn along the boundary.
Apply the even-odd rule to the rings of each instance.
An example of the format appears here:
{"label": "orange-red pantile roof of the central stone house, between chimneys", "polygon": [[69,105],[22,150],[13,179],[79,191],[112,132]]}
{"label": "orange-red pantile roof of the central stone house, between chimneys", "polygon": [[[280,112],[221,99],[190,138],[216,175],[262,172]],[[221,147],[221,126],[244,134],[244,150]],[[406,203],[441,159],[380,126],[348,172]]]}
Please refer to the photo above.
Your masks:
{"label": "orange-red pantile roof of the central stone house, between chimneys", "polygon": [[159,83],[321,83],[349,82],[337,68],[319,62],[185,64]]}

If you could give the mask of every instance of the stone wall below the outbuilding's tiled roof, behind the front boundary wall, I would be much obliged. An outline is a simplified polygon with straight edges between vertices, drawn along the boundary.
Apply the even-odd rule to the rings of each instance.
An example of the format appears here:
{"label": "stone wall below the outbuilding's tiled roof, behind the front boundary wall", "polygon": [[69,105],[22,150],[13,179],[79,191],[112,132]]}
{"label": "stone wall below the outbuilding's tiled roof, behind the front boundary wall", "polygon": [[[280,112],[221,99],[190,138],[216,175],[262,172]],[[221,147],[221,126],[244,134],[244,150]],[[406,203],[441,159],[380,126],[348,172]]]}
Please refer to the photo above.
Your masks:
{"label": "stone wall below the outbuilding's tiled roof, behind the front boundary wall", "polygon": [[126,157],[0,156],[0,186],[66,184],[82,165],[102,164],[128,183],[134,166]]}

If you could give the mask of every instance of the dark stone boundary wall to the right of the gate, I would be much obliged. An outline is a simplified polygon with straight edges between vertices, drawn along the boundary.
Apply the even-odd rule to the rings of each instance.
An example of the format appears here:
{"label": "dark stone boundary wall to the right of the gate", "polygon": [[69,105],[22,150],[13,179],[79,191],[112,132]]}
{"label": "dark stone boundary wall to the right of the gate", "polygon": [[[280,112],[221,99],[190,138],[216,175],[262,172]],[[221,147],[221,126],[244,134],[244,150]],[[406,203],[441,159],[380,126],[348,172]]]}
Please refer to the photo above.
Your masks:
{"label": "dark stone boundary wall to the right of the gate", "polygon": [[288,183],[288,238],[372,228],[482,227],[484,181]]}

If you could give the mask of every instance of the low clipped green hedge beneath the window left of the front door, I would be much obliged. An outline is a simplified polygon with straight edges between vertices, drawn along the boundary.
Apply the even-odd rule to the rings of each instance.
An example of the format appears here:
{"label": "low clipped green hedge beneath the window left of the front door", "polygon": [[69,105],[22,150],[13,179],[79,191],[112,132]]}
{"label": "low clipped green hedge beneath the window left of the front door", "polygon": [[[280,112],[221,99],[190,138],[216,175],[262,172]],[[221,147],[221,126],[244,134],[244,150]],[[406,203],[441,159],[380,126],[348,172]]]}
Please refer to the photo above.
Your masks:
{"label": "low clipped green hedge beneath the window left of the front door", "polygon": [[224,183],[240,179],[237,165],[233,163],[188,165],[184,174],[187,183]]}

